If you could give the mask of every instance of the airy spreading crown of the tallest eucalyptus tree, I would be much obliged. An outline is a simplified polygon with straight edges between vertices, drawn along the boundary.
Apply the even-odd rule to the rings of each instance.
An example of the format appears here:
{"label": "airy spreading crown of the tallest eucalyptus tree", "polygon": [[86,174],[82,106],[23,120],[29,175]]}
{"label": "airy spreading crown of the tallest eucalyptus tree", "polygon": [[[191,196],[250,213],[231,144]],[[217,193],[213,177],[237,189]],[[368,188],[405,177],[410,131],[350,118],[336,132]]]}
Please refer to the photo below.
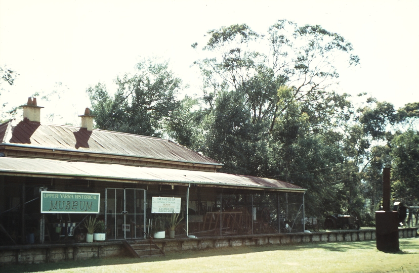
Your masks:
{"label": "airy spreading crown of the tallest eucalyptus tree", "polygon": [[[204,78],[205,100],[210,108],[221,90],[236,90],[245,98],[252,122],[267,121],[273,130],[278,106],[277,90],[293,88],[295,100],[314,109],[329,95],[339,77],[333,65],[347,55],[349,65],[359,58],[341,35],[316,25],[299,27],[280,20],[261,35],[249,26],[231,25],[207,32],[203,51],[208,58],[196,61]],[[197,43],[193,44],[197,48]],[[344,54],[342,54],[344,53]]]}

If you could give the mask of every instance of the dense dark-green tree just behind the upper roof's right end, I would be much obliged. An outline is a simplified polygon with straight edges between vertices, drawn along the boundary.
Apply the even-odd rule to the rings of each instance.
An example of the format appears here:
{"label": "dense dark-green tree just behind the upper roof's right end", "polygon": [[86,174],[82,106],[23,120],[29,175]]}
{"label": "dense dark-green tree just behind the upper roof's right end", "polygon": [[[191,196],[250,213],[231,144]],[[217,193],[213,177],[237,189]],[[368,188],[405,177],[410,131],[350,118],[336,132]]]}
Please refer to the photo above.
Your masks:
{"label": "dense dark-green tree just behind the upper roof's right end", "polygon": [[265,163],[258,125],[252,123],[250,111],[238,92],[222,92],[209,120],[205,154],[222,161],[224,172],[260,174]]}

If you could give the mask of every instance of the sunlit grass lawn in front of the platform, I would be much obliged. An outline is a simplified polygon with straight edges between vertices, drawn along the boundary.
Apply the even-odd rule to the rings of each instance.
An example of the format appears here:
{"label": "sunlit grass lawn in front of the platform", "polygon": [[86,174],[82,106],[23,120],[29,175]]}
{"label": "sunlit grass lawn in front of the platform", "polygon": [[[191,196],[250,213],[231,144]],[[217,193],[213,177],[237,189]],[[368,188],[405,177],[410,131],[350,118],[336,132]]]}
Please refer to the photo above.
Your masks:
{"label": "sunlit grass lawn in front of the platform", "polygon": [[400,239],[398,253],[375,241],[226,247],[158,258],[106,258],[7,265],[0,272],[419,272],[419,238]]}

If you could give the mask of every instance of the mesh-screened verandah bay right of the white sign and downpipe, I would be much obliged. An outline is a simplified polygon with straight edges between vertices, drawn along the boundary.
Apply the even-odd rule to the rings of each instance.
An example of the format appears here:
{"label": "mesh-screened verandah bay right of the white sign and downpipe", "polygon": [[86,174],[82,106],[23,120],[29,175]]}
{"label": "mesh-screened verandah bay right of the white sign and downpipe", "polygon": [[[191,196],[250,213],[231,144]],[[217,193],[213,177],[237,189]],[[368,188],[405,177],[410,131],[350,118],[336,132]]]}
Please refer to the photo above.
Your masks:
{"label": "mesh-screened verandah bay right of the white sign and downpipe", "polygon": [[303,232],[304,192],[189,189],[188,235],[229,236]]}

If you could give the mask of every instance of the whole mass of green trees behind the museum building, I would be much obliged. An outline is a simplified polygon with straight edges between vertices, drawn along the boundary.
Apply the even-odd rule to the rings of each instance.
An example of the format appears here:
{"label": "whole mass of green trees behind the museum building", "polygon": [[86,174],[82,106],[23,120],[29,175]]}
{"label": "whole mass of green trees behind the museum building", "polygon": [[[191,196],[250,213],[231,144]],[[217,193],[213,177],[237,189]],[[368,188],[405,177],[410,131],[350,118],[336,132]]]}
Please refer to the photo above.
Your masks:
{"label": "whole mass of green trees behind the museum building", "polygon": [[368,98],[356,108],[336,93],[342,65],[360,62],[343,36],[279,20],[266,33],[236,24],[205,37],[203,58],[194,62],[201,97],[177,99],[184,86],[168,64],[144,60],[137,73],[116,78],[116,94],[101,83],[88,88],[96,126],[164,132],[223,162],[221,171],[299,185],[308,189],[307,215],[366,217],[378,209],[389,164],[396,198],[417,204],[419,104],[395,109]]}

